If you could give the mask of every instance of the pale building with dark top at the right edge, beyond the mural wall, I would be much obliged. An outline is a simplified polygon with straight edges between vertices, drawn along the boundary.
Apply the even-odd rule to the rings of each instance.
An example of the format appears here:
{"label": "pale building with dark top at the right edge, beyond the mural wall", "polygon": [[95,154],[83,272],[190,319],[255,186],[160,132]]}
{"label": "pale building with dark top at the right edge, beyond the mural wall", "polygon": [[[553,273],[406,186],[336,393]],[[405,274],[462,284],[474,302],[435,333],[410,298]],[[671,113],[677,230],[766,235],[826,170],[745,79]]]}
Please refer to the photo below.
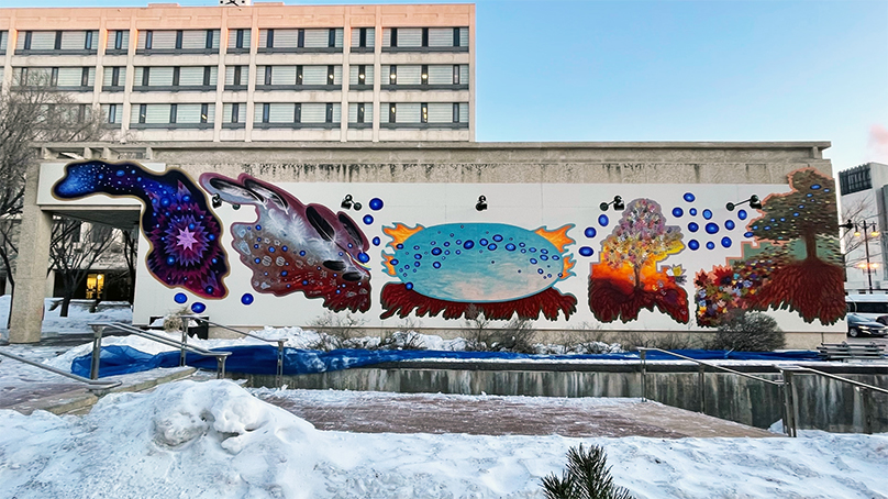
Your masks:
{"label": "pale building with dark top at the right edge, beyond the mural wall", "polygon": [[886,291],[888,274],[884,255],[888,247],[885,235],[888,228],[888,165],[865,163],[840,171],[839,186],[842,223],[850,220],[854,225],[843,229],[847,276],[845,289],[850,292],[868,292],[872,277],[873,289]]}

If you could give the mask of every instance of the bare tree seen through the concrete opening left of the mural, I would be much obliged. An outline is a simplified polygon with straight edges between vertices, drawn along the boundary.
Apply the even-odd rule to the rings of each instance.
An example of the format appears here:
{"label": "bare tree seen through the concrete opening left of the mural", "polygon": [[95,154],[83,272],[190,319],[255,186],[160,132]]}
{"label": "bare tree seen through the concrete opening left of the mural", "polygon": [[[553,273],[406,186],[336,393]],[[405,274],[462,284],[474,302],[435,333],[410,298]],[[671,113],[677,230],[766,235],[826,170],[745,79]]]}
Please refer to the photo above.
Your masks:
{"label": "bare tree seen through the concrete opening left of the mural", "polygon": [[49,257],[51,268],[62,275],[60,317],[68,317],[74,293],[96,262],[114,244],[114,239],[115,231],[108,225],[88,224],[64,217],[54,221]]}

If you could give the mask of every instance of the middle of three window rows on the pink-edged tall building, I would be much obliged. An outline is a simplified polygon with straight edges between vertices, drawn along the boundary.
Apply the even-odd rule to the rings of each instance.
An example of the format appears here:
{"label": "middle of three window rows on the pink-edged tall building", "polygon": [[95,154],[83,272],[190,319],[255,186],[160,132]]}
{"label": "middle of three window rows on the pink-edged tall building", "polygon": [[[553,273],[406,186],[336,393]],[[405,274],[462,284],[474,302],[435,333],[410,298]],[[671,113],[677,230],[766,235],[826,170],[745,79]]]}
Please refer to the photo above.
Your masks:
{"label": "middle of three window rows on the pink-edged tall building", "polygon": [[[384,89],[458,89],[468,88],[468,65],[384,65]],[[140,66],[135,68],[135,91],[145,90],[214,90],[218,66]],[[225,68],[225,86],[230,89],[246,87],[249,66]],[[258,66],[256,88],[271,89],[336,89],[342,86],[342,66]],[[374,66],[349,67],[348,82],[353,88],[371,88]],[[65,87],[91,90],[96,81],[95,67],[22,67],[19,68],[19,85]],[[102,88],[107,91],[123,90],[126,67],[106,67]]]}

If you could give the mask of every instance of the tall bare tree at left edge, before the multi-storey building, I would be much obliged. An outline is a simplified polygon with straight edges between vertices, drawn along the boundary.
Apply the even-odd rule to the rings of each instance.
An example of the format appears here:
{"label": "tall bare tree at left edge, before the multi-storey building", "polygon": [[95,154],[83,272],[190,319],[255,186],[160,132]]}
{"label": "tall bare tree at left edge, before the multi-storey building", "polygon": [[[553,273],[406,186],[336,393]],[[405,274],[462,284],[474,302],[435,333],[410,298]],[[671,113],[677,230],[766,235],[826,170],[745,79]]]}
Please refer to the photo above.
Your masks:
{"label": "tall bare tree at left edge, before the multi-storey building", "polygon": [[18,248],[13,229],[22,212],[25,169],[36,157],[34,142],[101,140],[104,117],[92,104],[77,104],[49,85],[48,75],[30,71],[0,89],[0,262],[11,287]]}

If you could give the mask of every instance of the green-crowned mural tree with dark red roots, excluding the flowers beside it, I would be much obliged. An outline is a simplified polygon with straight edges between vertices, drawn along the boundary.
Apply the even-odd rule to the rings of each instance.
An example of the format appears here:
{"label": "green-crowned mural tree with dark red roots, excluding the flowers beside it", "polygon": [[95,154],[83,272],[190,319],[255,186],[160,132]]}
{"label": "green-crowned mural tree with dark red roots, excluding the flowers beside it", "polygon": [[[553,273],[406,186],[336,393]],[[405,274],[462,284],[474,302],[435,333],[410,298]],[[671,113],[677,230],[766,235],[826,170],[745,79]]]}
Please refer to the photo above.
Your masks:
{"label": "green-crowned mural tree with dark red roots, excluding the flowers beside it", "polygon": [[[835,182],[813,168],[789,177],[792,192],[765,199],[765,214],[750,222],[750,231],[762,240],[804,243],[804,258],[775,269],[762,291],[751,297],[752,308],[792,309],[811,322],[832,324],[845,314],[844,276],[831,250],[839,233]],[[820,255],[818,246],[823,248]]]}

